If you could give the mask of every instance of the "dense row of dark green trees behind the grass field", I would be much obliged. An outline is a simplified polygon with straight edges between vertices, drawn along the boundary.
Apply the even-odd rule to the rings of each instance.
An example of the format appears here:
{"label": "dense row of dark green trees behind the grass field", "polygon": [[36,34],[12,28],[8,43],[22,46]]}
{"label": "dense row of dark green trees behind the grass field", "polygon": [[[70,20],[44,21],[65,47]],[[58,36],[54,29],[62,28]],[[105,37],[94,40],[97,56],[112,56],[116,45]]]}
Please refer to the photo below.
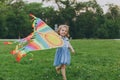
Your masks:
{"label": "dense row of dark green trees behind the grass field", "polygon": [[[49,0],[43,0],[49,1]],[[41,18],[51,28],[55,25],[70,26],[70,35],[74,39],[120,38],[120,8],[107,4],[109,11],[103,9],[96,0],[77,2],[76,0],[55,0],[58,9],[43,7],[42,3],[27,3],[23,0],[0,1],[0,39],[23,38],[33,30],[29,14]]]}

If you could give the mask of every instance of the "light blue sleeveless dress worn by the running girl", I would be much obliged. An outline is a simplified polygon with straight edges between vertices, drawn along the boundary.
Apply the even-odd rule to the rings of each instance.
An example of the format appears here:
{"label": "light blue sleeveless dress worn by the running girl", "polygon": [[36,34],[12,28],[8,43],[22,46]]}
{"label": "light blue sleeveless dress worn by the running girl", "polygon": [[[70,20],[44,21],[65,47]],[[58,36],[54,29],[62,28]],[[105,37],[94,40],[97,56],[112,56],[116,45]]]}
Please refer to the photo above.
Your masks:
{"label": "light blue sleeveless dress worn by the running girl", "polygon": [[64,44],[62,47],[57,48],[54,66],[60,66],[62,64],[69,65],[71,60],[70,49],[69,49],[69,39],[67,37],[62,37]]}

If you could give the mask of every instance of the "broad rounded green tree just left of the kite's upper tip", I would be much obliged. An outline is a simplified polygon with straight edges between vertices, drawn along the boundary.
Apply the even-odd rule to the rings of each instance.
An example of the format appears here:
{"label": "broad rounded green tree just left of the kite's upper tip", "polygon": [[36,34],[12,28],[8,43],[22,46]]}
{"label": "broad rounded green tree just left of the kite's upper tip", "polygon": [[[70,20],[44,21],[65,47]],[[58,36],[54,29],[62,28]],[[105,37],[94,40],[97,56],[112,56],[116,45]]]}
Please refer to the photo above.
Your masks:
{"label": "broad rounded green tree just left of the kite's upper tip", "polygon": [[28,27],[30,25],[29,17],[23,10],[25,3],[22,0],[18,0],[9,5],[9,10],[6,13],[5,26],[8,29],[7,38],[19,38],[25,37],[30,34]]}

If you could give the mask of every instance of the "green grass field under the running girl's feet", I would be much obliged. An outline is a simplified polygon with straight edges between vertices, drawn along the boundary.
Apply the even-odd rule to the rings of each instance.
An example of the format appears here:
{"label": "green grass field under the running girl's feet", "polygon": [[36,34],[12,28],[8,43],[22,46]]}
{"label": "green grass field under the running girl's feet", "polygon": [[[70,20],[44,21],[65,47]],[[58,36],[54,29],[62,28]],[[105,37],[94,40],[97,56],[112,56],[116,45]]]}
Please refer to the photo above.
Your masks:
{"label": "green grass field under the running girl's feet", "polygon": [[[120,80],[119,40],[72,40],[76,54],[67,67],[68,80]],[[56,49],[32,52],[20,63],[9,52],[15,45],[0,42],[0,80],[62,80],[53,66]]]}

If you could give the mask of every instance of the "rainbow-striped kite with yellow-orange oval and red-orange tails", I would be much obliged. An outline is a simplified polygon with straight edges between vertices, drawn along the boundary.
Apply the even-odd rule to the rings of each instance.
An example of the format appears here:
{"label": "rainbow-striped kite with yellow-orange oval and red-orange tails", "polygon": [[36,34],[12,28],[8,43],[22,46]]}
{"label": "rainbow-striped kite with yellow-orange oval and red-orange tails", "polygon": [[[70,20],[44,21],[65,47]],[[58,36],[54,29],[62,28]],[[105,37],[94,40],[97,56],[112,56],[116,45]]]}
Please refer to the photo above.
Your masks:
{"label": "rainbow-striped kite with yellow-orange oval and red-orange tails", "polygon": [[45,50],[63,45],[63,40],[60,36],[44,21],[32,14],[30,16],[33,18],[33,32],[21,39],[16,48],[11,51],[11,54],[16,55],[17,62],[20,62],[21,58],[30,51]]}

